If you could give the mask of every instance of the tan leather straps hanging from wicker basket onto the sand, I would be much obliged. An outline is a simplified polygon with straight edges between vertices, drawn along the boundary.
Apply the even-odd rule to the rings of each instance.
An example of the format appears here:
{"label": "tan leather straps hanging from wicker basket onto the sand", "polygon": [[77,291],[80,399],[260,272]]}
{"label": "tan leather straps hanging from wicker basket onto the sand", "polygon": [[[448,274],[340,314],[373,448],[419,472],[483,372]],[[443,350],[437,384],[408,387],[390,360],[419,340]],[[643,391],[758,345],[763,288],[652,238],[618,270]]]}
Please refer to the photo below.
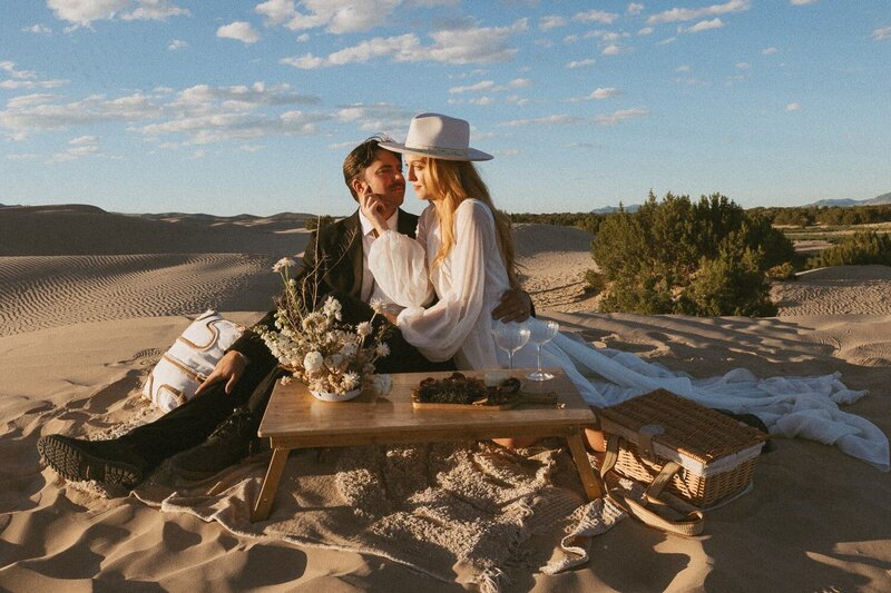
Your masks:
{"label": "tan leather straps hanging from wicker basket onto the sand", "polygon": [[[610,490],[606,481],[606,474],[613,470],[616,465],[616,461],[618,461],[619,445],[621,442],[623,438],[620,436],[615,434],[609,435],[606,456],[604,457],[604,463],[600,465],[600,476],[604,478],[603,482],[606,488],[606,495],[650,527],[685,537],[699,535],[703,532],[703,523],[705,522],[705,516],[701,511],[696,511],[693,506],[685,505],[686,508],[684,508],[683,512],[678,512],[658,497],[668,482],[670,482],[672,476],[681,468],[679,464],[668,462],[663,466],[659,474],[654,477],[653,482],[647,486],[646,502],[644,504]],[[659,512],[657,513],[656,511]],[[686,513],[686,515],[683,513]]]}

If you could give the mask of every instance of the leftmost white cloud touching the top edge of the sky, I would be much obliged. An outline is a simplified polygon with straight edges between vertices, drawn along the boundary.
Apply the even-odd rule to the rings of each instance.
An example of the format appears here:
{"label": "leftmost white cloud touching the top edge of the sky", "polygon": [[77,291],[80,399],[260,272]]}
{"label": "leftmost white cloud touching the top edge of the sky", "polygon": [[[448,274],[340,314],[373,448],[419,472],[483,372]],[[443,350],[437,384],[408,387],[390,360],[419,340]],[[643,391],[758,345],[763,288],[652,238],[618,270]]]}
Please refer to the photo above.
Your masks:
{"label": "leftmost white cloud touching the top edge of the sky", "polygon": [[190,14],[168,0],[47,0],[47,7],[57,19],[72,22],[75,28],[89,27],[97,20],[166,20]]}

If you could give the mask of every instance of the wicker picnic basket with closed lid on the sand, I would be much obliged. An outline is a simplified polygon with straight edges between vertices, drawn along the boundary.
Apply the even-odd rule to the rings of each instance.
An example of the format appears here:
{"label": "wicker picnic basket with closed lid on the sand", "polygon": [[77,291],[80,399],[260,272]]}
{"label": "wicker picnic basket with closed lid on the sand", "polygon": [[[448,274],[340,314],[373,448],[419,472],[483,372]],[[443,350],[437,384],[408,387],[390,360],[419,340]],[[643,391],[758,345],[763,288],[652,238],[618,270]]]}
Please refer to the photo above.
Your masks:
{"label": "wicker picnic basket with closed lid on the sand", "polygon": [[613,436],[614,447],[618,443],[615,472],[652,484],[674,462],[679,467],[665,488],[697,508],[745,492],[767,439],[756,428],[665,389],[603,408],[598,416],[605,437]]}

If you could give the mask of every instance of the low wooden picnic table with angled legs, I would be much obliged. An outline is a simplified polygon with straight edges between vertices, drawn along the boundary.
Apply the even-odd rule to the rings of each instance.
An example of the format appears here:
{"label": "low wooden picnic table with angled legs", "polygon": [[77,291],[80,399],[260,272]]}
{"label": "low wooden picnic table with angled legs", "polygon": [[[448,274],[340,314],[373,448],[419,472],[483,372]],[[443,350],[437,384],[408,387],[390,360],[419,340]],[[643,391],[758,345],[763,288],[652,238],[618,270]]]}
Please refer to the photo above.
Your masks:
{"label": "low wooden picnic table with angled legs", "polygon": [[[505,372],[522,380],[525,393],[555,392],[562,408],[521,405],[513,409],[415,409],[411,392],[427,377],[448,377],[451,373],[398,373],[391,375],[393,389],[376,396],[370,389],[349,402],[315,399],[300,382],[277,384],[273,389],[258,434],[268,438],[272,459],[263,480],[252,521],[270,515],[287,455],[293,448],[336,447],[433,441],[482,441],[506,437],[565,437],[588,498],[603,495],[599,476],[588,461],[582,428],[595,422],[594,413],[560,369],[549,369],[555,378],[526,379],[530,369]],[[482,376],[482,372],[464,372]]]}

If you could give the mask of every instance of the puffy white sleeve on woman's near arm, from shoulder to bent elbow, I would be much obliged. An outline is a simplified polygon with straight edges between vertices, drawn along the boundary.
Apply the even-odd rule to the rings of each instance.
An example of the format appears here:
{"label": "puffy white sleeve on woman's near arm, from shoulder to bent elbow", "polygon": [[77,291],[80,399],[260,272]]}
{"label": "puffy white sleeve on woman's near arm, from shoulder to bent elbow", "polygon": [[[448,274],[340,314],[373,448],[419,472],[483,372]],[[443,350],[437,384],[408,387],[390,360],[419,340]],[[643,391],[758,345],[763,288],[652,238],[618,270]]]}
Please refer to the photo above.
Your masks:
{"label": "puffy white sleeve on woman's near arm, from shoulder to bent elbow", "polygon": [[448,266],[448,280],[438,284],[439,302],[427,309],[409,307],[396,322],[405,339],[431,360],[454,356],[483,310],[486,246],[495,236],[495,221],[483,204],[467,200],[456,211],[454,224],[457,241],[442,264]]}

